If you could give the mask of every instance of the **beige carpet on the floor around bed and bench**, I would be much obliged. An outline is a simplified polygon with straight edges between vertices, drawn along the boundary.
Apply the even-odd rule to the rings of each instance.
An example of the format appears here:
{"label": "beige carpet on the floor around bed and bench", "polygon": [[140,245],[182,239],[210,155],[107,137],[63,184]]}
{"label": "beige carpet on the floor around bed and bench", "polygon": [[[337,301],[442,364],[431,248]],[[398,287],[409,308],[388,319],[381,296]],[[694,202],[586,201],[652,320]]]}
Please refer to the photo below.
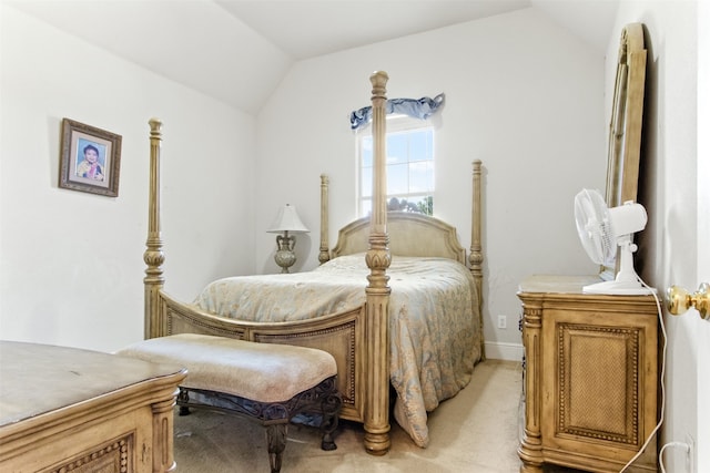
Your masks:
{"label": "beige carpet on the floor around bed and bench", "polygon": [[[364,451],[359,424],[342,422],[332,452],[321,450],[317,429],[292,424],[282,472],[517,472],[520,389],[520,363],[481,362],[468,387],[429,415],[427,449],[394,423],[392,450],[384,456]],[[174,446],[181,473],[270,471],[263,428],[235,417],[176,415]]]}

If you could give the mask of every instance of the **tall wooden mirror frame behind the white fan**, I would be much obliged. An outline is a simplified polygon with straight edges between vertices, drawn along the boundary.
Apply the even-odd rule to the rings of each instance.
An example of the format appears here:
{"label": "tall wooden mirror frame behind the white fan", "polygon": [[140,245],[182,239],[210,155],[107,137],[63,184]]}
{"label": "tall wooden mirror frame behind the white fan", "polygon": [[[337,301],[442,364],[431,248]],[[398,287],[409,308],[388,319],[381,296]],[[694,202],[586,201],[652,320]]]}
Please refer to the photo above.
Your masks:
{"label": "tall wooden mirror frame behind the white fan", "polygon": [[[617,75],[613,88],[609,151],[607,161],[607,206],[618,207],[636,202],[641,161],[641,128],[646,89],[646,58],[643,24],[629,23],[621,31]],[[615,279],[615,266],[604,266],[600,277]]]}

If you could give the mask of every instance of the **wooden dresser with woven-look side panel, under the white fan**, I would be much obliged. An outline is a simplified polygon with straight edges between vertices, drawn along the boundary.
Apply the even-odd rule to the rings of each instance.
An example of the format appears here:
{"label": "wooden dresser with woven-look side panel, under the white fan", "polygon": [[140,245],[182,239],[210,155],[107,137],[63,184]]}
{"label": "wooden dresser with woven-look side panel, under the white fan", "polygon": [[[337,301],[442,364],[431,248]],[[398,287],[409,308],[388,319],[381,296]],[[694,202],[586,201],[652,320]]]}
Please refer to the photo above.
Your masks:
{"label": "wooden dresser with woven-look side panel, under the white fan", "polygon": [[[520,285],[520,472],[541,473],[544,463],[619,472],[656,428],[656,300],[582,294],[591,282],[599,278],[534,276]],[[657,471],[655,440],[626,471]]]}

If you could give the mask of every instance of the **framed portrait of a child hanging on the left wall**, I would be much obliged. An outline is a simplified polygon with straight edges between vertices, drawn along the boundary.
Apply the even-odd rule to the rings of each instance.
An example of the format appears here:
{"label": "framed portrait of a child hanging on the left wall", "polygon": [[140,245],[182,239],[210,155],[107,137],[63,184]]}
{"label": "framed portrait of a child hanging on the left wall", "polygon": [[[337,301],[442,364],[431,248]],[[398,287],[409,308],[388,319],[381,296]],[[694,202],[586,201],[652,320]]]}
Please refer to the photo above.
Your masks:
{"label": "framed portrait of a child hanging on the left wall", "polygon": [[59,187],[116,197],[121,135],[73,120],[62,120]]}

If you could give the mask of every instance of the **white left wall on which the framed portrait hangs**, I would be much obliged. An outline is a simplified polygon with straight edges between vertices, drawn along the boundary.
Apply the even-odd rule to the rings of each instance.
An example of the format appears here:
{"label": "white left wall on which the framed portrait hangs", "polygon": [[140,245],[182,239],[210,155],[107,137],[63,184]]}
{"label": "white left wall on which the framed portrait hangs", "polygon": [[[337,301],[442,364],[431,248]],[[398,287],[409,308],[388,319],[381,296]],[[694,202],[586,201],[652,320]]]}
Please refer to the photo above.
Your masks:
{"label": "white left wall on which the framed portrait hangs", "polygon": [[[0,338],[108,351],[142,339],[152,116],[168,289],[190,298],[248,271],[254,120],[4,2],[0,16]],[[62,117],[122,135],[116,198],[58,188]]]}

